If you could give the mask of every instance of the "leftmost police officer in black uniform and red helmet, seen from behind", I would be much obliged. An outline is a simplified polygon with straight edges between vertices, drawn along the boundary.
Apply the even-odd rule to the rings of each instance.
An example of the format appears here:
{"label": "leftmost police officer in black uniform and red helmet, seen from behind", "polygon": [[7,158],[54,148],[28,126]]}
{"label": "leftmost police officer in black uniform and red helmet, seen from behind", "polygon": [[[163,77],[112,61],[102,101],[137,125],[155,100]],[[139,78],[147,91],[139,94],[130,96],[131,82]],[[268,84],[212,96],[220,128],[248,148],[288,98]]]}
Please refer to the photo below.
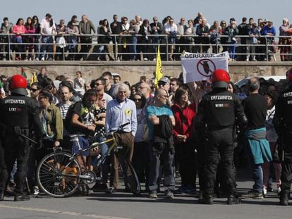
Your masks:
{"label": "leftmost police officer in black uniform and red helmet, seen from behind", "polygon": [[1,133],[1,152],[4,151],[4,156],[0,156],[0,201],[4,200],[8,175],[10,175],[15,161],[17,161],[17,171],[14,201],[30,199],[30,196],[23,194],[30,142],[20,135],[29,137],[29,130],[33,126],[37,141],[42,142],[42,125],[39,118],[39,108],[35,101],[27,96],[26,87],[25,77],[13,75],[9,82],[11,96],[0,101],[0,123],[3,130]]}

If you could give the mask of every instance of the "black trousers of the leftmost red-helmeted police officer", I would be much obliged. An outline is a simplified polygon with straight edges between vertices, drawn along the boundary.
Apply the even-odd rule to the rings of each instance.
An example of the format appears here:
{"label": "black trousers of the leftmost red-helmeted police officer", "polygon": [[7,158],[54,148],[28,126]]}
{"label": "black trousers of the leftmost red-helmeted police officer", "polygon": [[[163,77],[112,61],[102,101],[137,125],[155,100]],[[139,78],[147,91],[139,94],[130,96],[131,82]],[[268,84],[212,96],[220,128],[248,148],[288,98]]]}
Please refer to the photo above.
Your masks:
{"label": "black trousers of the leftmost red-helmeted police officer", "polygon": [[16,195],[23,194],[23,185],[25,183],[25,177],[28,170],[28,156],[30,151],[28,140],[25,140],[20,136],[16,136],[15,134],[8,134],[4,137],[2,144],[5,163],[2,165],[1,162],[0,192],[5,191],[6,183],[13,168],[13,164],[17,161],[17,170],[14,177],[16,189],[14,191]]}

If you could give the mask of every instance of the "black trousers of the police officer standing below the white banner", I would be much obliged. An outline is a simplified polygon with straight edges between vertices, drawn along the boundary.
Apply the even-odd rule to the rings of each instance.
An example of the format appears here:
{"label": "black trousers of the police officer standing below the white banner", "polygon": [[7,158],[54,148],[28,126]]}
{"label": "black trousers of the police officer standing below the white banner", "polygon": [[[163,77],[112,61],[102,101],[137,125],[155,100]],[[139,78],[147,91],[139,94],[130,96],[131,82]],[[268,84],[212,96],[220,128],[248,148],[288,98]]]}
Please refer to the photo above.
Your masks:
{"label": "black trousers of the police officer standing below the white banner", "polygon": [[223,177],[224,182],[226,182],[227,193],[236,194],[236,180],[233,169],[233,128],[210,130],[207,137],[209,141],[205,149],[203,196],[212,196],[214,192],[219,155],[223,165]]}

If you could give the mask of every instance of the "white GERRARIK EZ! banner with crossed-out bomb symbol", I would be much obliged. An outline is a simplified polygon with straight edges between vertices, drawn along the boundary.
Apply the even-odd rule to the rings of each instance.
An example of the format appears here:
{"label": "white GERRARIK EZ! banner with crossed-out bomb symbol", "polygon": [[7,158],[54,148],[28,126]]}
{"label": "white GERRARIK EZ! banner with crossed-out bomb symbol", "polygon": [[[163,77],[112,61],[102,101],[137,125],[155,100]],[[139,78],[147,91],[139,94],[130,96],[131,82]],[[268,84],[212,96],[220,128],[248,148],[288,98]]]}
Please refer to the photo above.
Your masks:
{"label": "white GERRARIK EZ! banner with crossed-out bomb symbol", "polygon": [[214,70],[228,70],[228,52],[221,54],[191,54],[185,52],[181,55],[181,68],[183,68],[183,82],[197,82],[209,80]]}

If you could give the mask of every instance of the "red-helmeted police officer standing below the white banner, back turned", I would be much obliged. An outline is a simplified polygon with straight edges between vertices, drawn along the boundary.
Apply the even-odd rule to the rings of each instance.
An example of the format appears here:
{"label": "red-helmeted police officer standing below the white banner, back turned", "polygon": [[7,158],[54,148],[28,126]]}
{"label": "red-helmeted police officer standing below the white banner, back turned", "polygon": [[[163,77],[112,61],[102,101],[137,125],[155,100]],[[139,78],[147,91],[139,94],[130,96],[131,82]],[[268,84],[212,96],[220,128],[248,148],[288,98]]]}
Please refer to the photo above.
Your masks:
{"label": "red-helmeted police officer standing below the white banner, back turned", "polygon": [[233,169],[233,127],[236,118],[241,125],[247,123],[241,101],[229,91],[230,77],[222,69],[212,74],[212,92],[205,94],[200,101],[196,115],[196,127],[207,129],[205,149],[203,199],[199,203],[213,204],[214,181],[216,179],[219,154],[224,166],[224,180],[228,187],[227,204],[240,204],[236,192],[236,180]]}

